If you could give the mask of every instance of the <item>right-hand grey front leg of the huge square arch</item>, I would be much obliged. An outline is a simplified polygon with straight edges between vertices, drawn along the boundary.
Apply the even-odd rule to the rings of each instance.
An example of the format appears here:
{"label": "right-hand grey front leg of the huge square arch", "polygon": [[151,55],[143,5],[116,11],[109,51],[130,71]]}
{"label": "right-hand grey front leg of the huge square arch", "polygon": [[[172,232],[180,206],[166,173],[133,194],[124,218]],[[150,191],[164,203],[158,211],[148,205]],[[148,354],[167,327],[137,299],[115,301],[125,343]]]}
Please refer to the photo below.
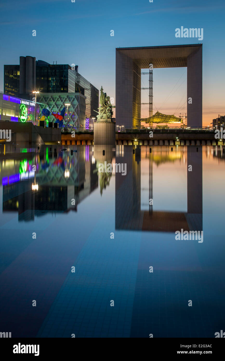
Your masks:
{"label": "right-hand grey front leg of the huge square arch", "polygon": [[187,57],[187,125],[202,126],[202,47]]}

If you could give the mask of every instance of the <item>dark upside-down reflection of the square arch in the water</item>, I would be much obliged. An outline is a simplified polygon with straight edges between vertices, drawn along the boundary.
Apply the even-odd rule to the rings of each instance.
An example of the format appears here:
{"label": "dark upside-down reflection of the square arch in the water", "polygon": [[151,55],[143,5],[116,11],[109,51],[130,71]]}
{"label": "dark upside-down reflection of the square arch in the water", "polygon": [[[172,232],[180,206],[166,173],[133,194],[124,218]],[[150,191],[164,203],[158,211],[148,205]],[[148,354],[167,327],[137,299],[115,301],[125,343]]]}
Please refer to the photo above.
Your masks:
{"label": "dark upside-down reflection of the square arch in the water", "polygon": [[[133,156],[129,146],[125,146],[124,149],[124,157],[116,157],[117,163],[127,163],[126,177],[116,173],[116,229],[175,232],[183,228],[187,231],[201,231],[202,147],[196,152],[195,147],[187,146],[187,165],[192,165],[192,171],[187,171],[186,213],[154,211],[151,205],[149,212],[140,209],[140,162],[137,162],[137,156]],[[152,160],[153,157],[149,153],[149,199],[153,198]]]}

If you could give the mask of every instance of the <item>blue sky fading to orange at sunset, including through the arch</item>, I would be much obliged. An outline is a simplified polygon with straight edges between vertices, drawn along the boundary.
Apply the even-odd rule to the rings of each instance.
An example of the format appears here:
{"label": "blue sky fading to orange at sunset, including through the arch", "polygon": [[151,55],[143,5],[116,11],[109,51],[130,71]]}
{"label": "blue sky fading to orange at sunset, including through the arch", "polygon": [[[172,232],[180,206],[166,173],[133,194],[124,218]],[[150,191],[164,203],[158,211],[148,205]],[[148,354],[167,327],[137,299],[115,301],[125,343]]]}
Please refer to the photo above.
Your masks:
{"label": "blue sky fading to orange at sunset, including through the arch", "polygon": [[[223,0],[1,0],[0,12],[1,91],[4,64],[19,64],[20,56],[29,55],[78,65],[79,73],[99,90],[103,86],[116,105],[117,47],[203,43],[203,125],[225,115]],[[176,38],[181,26],[203,28],[203,40]],[[153,113],[185,114],[186,79],[186,68],[153,69]],[[148,87],[148,75],[142,75],[142,87]],[[142,102],[147,101],[143,90]]]}

